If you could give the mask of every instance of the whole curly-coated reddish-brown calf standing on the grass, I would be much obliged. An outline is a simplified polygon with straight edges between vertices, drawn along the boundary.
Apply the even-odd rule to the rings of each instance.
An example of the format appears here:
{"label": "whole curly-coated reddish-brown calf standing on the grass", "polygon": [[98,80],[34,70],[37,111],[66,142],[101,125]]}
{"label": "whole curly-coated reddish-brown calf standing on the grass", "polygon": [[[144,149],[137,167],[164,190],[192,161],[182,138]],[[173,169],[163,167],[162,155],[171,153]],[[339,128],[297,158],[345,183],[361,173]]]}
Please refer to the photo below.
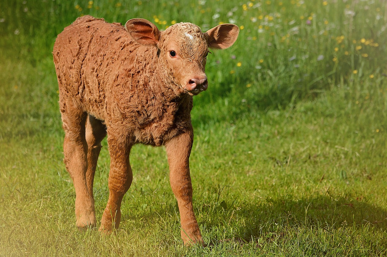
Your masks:
{"label": "whole curly-coated reddish-brown calf standing on the grass", "polygon": [[203,33],[194,24],[180,23],[160,32],[144,19],[129,20],[125,27],[87,15],[66,27],[53,49],[76,224],[96,225],[92,187],[101,140],[107,134],[109,200],[100,230],[110,232],[120,223],[121,201],[132,183],[132,145],[165,145],[182,238],[186,244],[202,242],[188,161],[192,96],[207,89],[208,47],[231,46],[239,29],[223,24]]}

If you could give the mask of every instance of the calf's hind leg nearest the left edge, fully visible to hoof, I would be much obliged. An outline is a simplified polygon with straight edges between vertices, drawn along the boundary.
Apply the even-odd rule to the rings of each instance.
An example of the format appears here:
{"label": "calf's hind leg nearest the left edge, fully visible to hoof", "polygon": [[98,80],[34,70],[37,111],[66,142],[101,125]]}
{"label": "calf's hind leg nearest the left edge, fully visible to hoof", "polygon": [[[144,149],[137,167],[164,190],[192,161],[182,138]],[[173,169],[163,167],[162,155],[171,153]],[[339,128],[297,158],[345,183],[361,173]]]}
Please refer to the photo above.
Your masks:
{"label": "calf's hind leg nearest the left edge, fully visible to hoof", "polygon": [[96,218],[94,201],[89,193],[86,182],[87,142],[85,126],[87,114],[72,105],[72,101],[60,99],[63,130],[63,154],[66,169],[70,174],[75,188],[75,216],[77,227],[83,229],[95,227]]}

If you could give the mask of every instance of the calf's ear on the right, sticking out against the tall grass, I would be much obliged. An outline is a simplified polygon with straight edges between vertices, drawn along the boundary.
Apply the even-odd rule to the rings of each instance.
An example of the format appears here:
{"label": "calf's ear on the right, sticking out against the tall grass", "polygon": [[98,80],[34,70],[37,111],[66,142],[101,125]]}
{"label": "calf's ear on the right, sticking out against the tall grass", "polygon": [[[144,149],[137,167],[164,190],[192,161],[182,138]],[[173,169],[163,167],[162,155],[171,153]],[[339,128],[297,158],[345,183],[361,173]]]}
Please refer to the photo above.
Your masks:
{"label": "calf's ear on the right, sticking out against the tall grass", "polygon": [[239,34],[235,24],[221,24],[205,32],[210,48],[226,49],[232,46]]}

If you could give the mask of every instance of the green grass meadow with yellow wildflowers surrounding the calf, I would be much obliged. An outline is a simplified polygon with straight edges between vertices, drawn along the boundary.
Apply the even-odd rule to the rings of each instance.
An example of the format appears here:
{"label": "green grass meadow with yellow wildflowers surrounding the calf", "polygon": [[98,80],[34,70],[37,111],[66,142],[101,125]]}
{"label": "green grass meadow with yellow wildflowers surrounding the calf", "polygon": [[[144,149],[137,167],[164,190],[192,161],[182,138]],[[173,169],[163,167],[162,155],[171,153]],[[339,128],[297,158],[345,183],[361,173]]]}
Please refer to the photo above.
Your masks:
{"label": "green grass meadow with yellow wildflowers surrounding the calf", "polygon": [[[207,247],[183,246],[162,147],[132,150],[116,233],[75,227],[51,51],[85,14],[240,26],[209,56],[192,110]],[[386,24],[384,0],[0,0],[0,256],[386,256]]]}

